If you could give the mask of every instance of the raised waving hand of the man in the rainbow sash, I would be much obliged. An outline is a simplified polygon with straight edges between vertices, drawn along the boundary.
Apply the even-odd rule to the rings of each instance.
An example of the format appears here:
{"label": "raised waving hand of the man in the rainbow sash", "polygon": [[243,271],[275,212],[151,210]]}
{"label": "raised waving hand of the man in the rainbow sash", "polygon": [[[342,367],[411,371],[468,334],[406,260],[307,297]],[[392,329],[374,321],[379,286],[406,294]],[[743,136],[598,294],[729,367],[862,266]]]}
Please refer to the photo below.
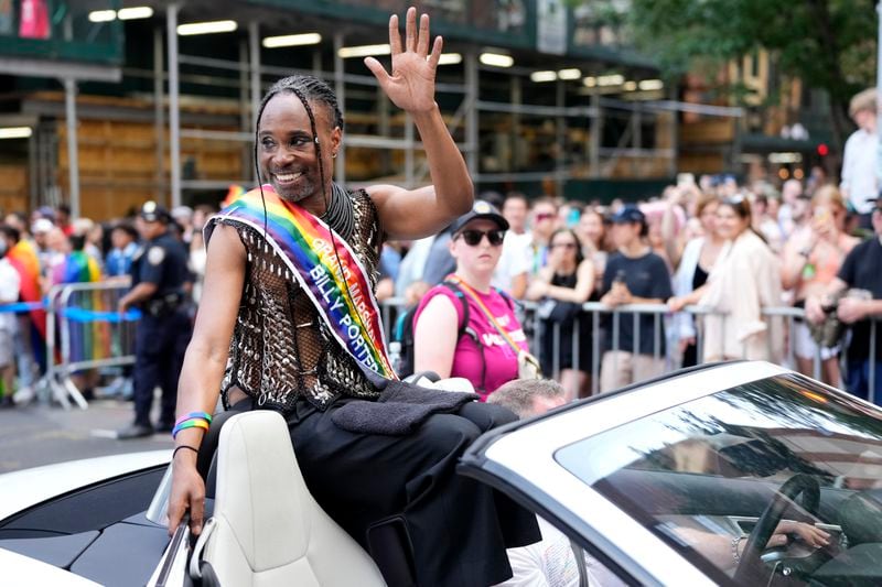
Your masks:
{"label": "raised waving hand of the man in the rainbow sash", "polygon": [[398,15],[389,18],[391,75],[374,57],[365,58],[365,65],[377,78],[386,96],[407,112],[428,112],[435,107],[434,76],[443,42],[437,36],[429,53],[429,15],[420,17],[418,30],[417,9],[411,7],[406,17],[404,47],[398,31]]}

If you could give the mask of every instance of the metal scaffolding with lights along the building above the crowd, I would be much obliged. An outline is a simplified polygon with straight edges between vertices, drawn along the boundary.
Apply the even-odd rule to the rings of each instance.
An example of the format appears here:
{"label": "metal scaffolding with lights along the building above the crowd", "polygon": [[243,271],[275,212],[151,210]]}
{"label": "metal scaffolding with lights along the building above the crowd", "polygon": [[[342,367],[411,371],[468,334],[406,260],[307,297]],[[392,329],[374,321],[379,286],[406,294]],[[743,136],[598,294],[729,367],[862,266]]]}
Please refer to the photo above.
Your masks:
{"label": "metal scaffolding with lights along the building above the crowd", "polygon": [[[276,79],[298,73],[329,81],[348,118],[343,148],[335,160],[337,182],[358,186],[384,181],[406,187],[429,183],[429,167],[412,121],[390,105],[366,68],[347,66],[348,59],[341,56],[347,44],[379,40],[385,34],[383,28],[349,22],[340,15],[309,15],[299,22],[300,30],[320,31],[323,41],[286,50],[286,55],[297,62],[288,66],[279,64],[281,50],[261,44],[263,35],[278,33],[286,25],[268,15],[265,7],[249,9],[241,3],[234,7],[223,2],[211,7],[198,2],[154,4],[157,13],[149,22],[149,43],[142,43],[152,46],[139,47],[151,56],[152,67],[120,63],[101,66],[97,77],[84,74],[62,78],[65,129],[54,135],[37,132],[31,138],[32,205],[56,204],[64,191],[77,214],[82,208],[80,182],[88,184],[90,194],[98,193],[103,183],[109,186],[107,191],[120,189],[123,181],[127,186],[141,186],[140,192],[131,192],[129,206],[148,193],[178,206],[190,203],[194,194],[211,193],[217,198],[230,184],[252,185],[257,177],[251,143],[260,98]],[[227,14],[228,9],[234,13]],[[224,39],[225,43],[230,39],[235,42],[235,51],[216,55],[211,43],[182,46],[178,25],[192,20],[195,13],[201,20],[234,17],[241,31]],[[676,175],[677,112],[695,105],[675,101],[676,88],[637,90],[639,79],[657,76],[653,68],[624,57],[616,62],[616,54],[609,51],[602,52],[603,58],[589,58],[570,53],[549,56],[535,50],[509,47],[506,51],[518,57],[518,65],[501,69],[480,62],[478,55],[485,50],[486,45],[474,39],[448,39],[445,51],[461,55],[461,63],[441,66],[437,85],[448,127],[480,189],[533,185],[533,193],[563,196],[568,195],[567,185],[578,182],[615,178],[664,182]],[[275,58],[273,52],[277,52]],[[531,76],[539,68],[578,70],[579,76],[534,81]],[[626,73],[620,86],[631,85],[630,90],[619,87],[620,91],[610,91],[616,88],[590,87],[587,83],[588,78],[601,79],[613,69]],[[151,91],[129,93],[139,100],[138,108],[121,102],[92,104],[85,97],[77,99],[79,84],[88,79],[141,88],[149,85]],[[216,108],[206,111],[211,105]],[[52,100],[32,99],[23,111],[37,118],[57,116],[58,106]],[[739,109],[731,108],[706,113],[740,116]],[[120,163],[84,163],[79,156],[84,145],[105,145],[105,150],[119,151],[118,142],[114,142],[117,139],[77,135],[78,122],[87,118],[152,124],[151,139],[129,139],[122,143],[123,149],[135,150],[129,156],[135,160],[132,165],[140,160],[141,165],[149,165],[150,173],[130,173],[122,180],[112,175],[115,170],[125,167]],[[143,128],[141,131],[148,132]],[[215,151],[224,149],[223,156],[215,153],[208,172],[200,169],[198,154],[192,154],[194,144],[206,143],[213,143]],[[187,150],[191,155],[184,156]],[[232,153],[235,153],[233,159]],[[60,169],[47,169],[53,154],[63,164]],[[109,161],[116,155],[104,156]],[[60,173],[65,166],[67,173]],[[80,167],[98,167],[104,175],[96,172],[83,178]],[[105,199],[108,206],[114,205],[110,196]]]}

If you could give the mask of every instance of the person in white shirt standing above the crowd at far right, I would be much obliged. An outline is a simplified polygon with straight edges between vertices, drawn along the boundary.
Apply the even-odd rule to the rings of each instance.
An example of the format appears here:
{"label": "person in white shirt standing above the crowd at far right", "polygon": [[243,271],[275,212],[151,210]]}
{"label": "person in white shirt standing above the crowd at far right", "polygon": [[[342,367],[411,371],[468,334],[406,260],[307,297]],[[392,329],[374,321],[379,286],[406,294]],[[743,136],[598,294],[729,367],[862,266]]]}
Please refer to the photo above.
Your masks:
{"label": "person in white shirt standing above the crowd at far right", "polygon": [[875,94],[874,88],[865,89],[849,104],[849,115],[858,130],[846,141],[839,185],[850,207],[860,215],[861,228],[869,229],[872,229],[870,217],[879,197]]}

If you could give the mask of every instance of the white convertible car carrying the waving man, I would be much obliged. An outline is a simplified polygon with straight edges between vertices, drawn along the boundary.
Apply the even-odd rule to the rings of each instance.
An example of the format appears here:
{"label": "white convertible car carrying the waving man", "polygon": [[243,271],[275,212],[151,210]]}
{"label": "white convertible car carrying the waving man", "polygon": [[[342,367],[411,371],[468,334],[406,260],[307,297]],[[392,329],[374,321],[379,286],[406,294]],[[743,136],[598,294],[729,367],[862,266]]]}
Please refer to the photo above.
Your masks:
{"label": "white convertible car carrying the waving man", "polygon": [[[168,458],[0,476],[0,583],[412,579],[400,529],[372,557],[319,509],[277,414],[223,427],[198,541],[182,530],[170,545],[161,525]],[[546,540],[563,555],[535,557],[548,585],[882,585],[882,411],[770,363],[680,371],[492,431],[459,472],[560,531]]]}

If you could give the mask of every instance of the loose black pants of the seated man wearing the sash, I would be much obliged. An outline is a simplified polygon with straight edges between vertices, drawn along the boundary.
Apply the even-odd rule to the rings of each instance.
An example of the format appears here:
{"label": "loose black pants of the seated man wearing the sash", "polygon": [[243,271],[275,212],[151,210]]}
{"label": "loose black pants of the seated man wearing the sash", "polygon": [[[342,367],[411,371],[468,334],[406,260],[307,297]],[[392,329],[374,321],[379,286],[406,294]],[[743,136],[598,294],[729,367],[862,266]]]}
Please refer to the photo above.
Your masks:
{"label": "loose black pants of the seated man wearing the sash", "polygon": [[426,587],[486,587],[512,576],[505,550],[540,539],[536,517],[490,487],[455,474],[483,432],[510,422],[503,407],[469,403],[434,414],[409,436],[355,434],[305,400],[288,415],[298,464],[321,507],[366,547],[367,528],[401,514]]}

